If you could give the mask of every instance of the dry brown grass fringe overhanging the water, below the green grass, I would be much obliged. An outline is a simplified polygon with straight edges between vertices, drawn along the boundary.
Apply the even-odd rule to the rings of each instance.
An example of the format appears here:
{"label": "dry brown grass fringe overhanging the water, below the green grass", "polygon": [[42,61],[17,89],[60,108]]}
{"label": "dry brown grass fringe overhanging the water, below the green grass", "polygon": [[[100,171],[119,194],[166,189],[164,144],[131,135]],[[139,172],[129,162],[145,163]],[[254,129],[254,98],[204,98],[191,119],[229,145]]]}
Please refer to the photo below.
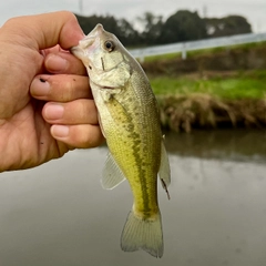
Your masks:
{"label": "dry brown grass fringe overhanging the water, below the green grass", "polygon": [[192,129],[266,127],[266,99],[217,99],[209,94],[157,96],[161,123],[175,132]]}

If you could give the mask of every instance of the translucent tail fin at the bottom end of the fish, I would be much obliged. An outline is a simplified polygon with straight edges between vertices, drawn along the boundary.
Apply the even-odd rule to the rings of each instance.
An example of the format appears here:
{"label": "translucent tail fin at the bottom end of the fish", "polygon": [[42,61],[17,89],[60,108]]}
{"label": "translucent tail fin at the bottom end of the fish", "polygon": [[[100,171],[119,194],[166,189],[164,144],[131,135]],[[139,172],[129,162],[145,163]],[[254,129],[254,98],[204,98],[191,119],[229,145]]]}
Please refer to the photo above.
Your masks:
{"label": "translucent tail fin at the bottom end of the fish", "polygon": [[163,232],[161,214],[155,219],[141,219],[131,211],[121,236],[121,248],[124,252],[144,249],[154,257],[163,256]]}

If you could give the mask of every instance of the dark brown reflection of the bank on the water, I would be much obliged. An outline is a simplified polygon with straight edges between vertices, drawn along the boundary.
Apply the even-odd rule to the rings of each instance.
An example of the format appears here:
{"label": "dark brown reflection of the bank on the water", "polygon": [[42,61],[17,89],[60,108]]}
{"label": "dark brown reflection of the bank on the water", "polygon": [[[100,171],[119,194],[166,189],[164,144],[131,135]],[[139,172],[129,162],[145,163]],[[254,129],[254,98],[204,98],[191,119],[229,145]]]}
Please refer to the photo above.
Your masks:
{"label": "dark brown reflection of the bank on the water", "polygon": [[166,133],[167,151],[181,156],[224,158],[233,161],[254,160],[265,162],[265,130],[219,130]]}

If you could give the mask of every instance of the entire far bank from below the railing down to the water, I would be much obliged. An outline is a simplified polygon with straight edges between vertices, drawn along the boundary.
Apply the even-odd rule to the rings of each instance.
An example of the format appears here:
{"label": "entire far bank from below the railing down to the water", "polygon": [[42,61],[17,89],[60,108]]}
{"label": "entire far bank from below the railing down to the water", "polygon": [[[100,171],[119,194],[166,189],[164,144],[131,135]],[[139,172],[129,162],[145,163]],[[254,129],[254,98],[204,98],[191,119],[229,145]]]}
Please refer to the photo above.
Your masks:
{"label": "entire far bank from below the railing down to the water", "polygon": [[147,59],[163,127],[266,127],[266,45]]}

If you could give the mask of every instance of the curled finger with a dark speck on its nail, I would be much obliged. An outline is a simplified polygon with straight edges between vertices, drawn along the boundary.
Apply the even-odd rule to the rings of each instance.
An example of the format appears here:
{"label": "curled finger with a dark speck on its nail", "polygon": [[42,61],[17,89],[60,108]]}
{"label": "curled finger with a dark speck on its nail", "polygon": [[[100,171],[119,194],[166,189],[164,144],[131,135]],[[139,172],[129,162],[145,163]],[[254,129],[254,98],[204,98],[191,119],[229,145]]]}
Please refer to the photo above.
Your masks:
{"label": "curled finger with a dark speck on its nail", "polygon": [[37,75],[30,86],[31,95],[38,100],[69,102],[92,99],[88,76],[57,74]]}

